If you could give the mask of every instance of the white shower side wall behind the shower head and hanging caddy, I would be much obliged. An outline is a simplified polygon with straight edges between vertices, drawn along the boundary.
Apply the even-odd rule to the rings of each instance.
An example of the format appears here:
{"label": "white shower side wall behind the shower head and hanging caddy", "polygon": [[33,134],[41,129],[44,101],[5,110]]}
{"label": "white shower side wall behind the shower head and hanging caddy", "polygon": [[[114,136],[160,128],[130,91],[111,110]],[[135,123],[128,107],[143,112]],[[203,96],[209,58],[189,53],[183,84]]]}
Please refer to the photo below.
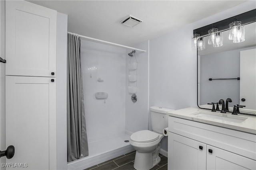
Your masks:
{"label": "white shower side wall behind the shower head and hanging caddy", "polygon": [[[128,93],[128,64],[130,62],[131,49],[126,49],[126,116],[125,129],[126,133],[132,133],[140,130],[148,129],[148,41],[136,45],[135,48],[146,50],[146,52],[136,51],[135,56],[138,61],[137,66],[137,102],[131,100],[132,94]],[[132,58],[134,60],[134,57]],[[136,71],[130,71],[130,74],[136,74]],[[135,86],[136,83],[130,83]]]}

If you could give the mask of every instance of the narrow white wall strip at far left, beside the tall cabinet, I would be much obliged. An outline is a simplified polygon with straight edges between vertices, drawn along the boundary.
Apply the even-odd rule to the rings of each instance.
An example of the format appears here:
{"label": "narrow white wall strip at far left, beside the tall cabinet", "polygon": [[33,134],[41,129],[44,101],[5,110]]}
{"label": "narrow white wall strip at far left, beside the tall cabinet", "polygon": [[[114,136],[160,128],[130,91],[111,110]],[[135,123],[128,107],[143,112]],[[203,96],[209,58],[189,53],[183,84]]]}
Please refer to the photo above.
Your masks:
{"label": "narrow white wall strip at far left, beside the tall cabinet", "polygon": [[[5,1],[0,1],[0,57],[5,59]],[[0,150],[5,147],[5,64],[0,63]],[[0,159],[5,163],[5,156]],[[4,170],[2,166],[1,170]]]}

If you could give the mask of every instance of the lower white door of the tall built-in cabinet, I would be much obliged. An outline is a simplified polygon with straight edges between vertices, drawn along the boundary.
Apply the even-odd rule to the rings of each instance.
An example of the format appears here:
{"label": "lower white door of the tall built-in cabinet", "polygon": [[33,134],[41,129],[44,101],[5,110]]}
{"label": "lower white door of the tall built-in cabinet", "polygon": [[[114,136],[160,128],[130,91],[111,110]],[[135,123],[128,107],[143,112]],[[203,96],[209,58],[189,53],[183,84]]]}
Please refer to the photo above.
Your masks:
{"label": "lower white door of the tall built-in cabinet", "polygon": [[56,169],[55,78],[6,76],[9,145],[14,145],[15,155],[6,163],[27,164],[26,170]]}

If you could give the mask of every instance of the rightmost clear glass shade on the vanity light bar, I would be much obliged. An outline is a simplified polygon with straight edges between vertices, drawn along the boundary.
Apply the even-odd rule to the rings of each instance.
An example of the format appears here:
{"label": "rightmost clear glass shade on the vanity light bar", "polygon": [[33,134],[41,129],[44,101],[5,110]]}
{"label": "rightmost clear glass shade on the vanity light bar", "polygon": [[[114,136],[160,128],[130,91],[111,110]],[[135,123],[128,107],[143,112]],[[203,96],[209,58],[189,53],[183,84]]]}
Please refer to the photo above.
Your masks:
{"label": "rightmost clear glass shade on the vanity light bar", "polygon": [[236,18],[234,18],[234,22],[229,24],[228,39],[233,40],[233,43],[240,43],[245,40],[245,28],[241,24],[242,22],[237,21]]}

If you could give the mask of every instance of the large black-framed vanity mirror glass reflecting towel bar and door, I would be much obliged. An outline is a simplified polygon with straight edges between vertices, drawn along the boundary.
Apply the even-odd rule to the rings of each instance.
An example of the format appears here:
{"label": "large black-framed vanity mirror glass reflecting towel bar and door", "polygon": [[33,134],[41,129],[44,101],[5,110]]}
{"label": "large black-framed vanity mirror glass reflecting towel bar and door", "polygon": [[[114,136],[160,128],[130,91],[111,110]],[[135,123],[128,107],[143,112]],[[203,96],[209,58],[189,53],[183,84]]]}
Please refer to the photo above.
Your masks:
{"label": "large black-framed vanity mirror glass reflecting towel bar and door", "polygon": [[208,45],[205,37],[206,47],[198,51],[198,106],[209,109],[208,103],[224,99],[226,104],[231,98],[229,110],[242,105],[241,112],[256,113],[255,30],[256,22],[245,25],[245,41],[241,43],[233,43],[228,30],[223,31],[222,47]]}

